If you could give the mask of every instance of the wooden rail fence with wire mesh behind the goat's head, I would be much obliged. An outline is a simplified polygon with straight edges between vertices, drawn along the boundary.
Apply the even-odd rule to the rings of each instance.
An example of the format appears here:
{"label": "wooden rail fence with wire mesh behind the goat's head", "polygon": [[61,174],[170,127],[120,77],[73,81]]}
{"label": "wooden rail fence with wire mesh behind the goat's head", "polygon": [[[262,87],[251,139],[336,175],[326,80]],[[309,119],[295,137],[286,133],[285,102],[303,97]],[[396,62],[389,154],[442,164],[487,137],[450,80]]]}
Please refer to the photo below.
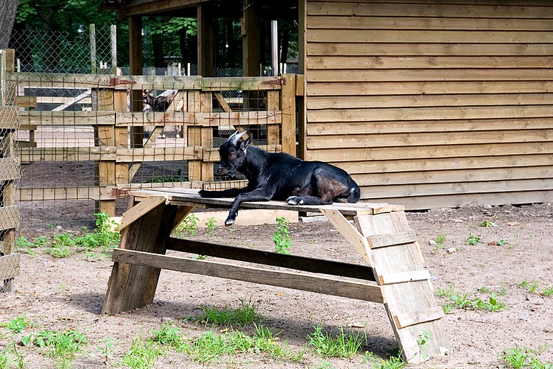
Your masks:
{"label": "wooden rail fence with wire mesh behind the goat's head", "polygon": [[[93,199],[96,210],[115,213],[115,199],[130,189],[180,186],[214,188],[214,163],[221,136],[238,127],[262,132],[258,143],[272,152],[296,152],[296,96],[303,93],[301,75],[279,77],[202,78],[200,76],[123,76],[8,73],[19,87],[23,163],[95,161],[95,186],[26,188],[21,201]],[[41,98],[27,91],[84,90],[77,98]],[[166,111],[129,111],[142,91],[171,90]],[[89,96],[87,91],[90,91]],[[234,94],[234,97],[229,97]],[[236,97],[238,96],[238,97]],[[89,99],[89,100],[86,100]],[[44,110],[48,100],[57,108]],[[86,101],[85,101],[86,100]],[[89,102],[91,108],[64,110]],[[59,108],[61,106],[61,108]],[[66,129],[71,134],[65,134]],[[162,132],[178,139],[160,140]],[[44,139],[45,132],[50,138]],[[76,132],[76,133],[75,133]],[[144,136],[143,132],[151,132]],[[72,140],[69,136],[81,135]],[[44,137],[43,137],[44,136]],[[144,162],[187,161],[186,181],[133,183]]]}

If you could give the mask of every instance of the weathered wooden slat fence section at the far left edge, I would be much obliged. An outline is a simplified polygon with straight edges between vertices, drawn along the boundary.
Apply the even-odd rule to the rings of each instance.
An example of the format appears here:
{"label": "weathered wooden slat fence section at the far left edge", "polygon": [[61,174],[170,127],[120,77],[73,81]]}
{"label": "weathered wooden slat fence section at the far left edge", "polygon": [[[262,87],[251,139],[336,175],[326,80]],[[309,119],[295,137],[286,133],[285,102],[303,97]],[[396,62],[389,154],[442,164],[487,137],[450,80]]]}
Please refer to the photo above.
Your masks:
{"label": "weathered wooden slat fence section at the far left edge", "polygon": [[17,199],[19,156],[17,140],[19,128],[17,89],[8,82],[11,58],[0,50],[0,291],[10,288],[10,282],[19,271],[19,257],[13,254],[15,232],[21,212]]}

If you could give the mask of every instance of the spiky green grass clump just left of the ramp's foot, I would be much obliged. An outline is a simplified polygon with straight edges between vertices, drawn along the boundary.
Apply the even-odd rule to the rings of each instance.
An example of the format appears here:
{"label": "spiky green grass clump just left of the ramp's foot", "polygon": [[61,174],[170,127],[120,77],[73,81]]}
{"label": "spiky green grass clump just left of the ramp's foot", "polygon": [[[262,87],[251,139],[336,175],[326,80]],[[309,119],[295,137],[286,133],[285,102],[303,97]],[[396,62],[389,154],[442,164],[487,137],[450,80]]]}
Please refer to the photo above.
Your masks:
{"label": "spiky green grass clump just left of the ramp's foot", "polygon": [[321,357],[353,357],[361,347],[359,335],[344,332],[340,327],[337,336],[332,332],[322,332],[321,325],[315,327],[315,332],[308,334],[309,345],[315,348],[315,352]]}

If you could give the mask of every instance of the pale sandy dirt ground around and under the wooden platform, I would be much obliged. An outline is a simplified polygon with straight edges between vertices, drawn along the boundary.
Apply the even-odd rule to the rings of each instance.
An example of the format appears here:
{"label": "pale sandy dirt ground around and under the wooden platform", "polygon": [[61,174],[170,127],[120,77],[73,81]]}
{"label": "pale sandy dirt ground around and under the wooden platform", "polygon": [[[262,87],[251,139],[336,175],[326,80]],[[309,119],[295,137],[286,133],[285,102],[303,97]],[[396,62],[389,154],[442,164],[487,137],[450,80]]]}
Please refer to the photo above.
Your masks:
{"label": "pale sandy dirt ground around and under the wooden platform", "polygon": [[[553,362],[553,297],[540,294],[553,286],[552,212],[553,204],[537,204],[408,213],[427,268],[435,278],[438,303],[449,303],[448,298],[438,296],[438,291],[451,286],[469,294],[469,298],[487,300],[494,293],[507,307],[499,312],[453,307],[444,318],[453,350],[445,357],[425,362],[421,368],[505,368],[500,357],[505,349],[516,346],[536,350],[534,355],[543,363]],[[496,226],[478,226],[486,220]],[[272,250],[274,230],[270,225],[218,227],[211,240]],[[75,229],[54,224],[52,231],[35,229],[23,234],[32,238],[57,231]],[[328,222],[292,224],[290,231],[294,244],[291,251],[295,255],[362,263]],[[429,243],[440,234],[446,234],[442,247]],[[481,242],[467,244],[469,235],[480,237]],[[194,236],[198,240],[206,237],[205,230]],[[300,362],[277,362],[267,354],[251,352],[223,357],[209,366],[194,364],[185,354],[168,350],[158,358],[156,368],[371,368],[364,361],[365,351],[386,357],[397,350],[384,307],[375,303],[162,271],[152,305],[117,316],[102,316],[110,260],[88,262],[82,253],[55,259],[39,253],[35,257],[23,254],[21,262],[21,276],[15,280],[12,292],[0,294],[0,322],[25,315],[34,322],[33,327],[26,328],[29,332],[75,328],[84,332],[89,343],[75,357],[75,368],[120,367],[118,362],[133,339],[149,337],[152,330],[166,321],[180,327],[187,338],[200,336],[207,330],[220,332],[221,327],[206,327],[184,318],[199,316],[202,305],[236,307],[241,298],[251,298],[259,304],[263,324],[273,332],[281,332],[279,342],[288,342],[294,352],[306,346],[306,336],[316,325],[334,332],[344,327],[346,332],[366,335],[362,350],[353,359],[322,359],[308,348]],[[539,282],[536,291],[519,287],[523,281]],[[97,350],[103,339],[115,342],[113,357],[108,360]],[[0,327],[0,343],[0,350],[10,345],[6,328]],[[54,367],[44,350],[19,347],[19,353],[24,356],[27,368]]]}

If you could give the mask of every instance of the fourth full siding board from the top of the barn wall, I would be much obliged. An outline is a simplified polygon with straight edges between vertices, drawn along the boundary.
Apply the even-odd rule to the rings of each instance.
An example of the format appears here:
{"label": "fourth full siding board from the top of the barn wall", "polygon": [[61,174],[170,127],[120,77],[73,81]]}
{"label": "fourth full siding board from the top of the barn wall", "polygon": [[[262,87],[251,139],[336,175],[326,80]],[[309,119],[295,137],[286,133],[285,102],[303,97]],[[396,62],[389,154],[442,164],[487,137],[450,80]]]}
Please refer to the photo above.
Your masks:
{"label": "fourth full siding board from the top of the barn wall", "polygon": [[[511,19],[509,19],[510,21]],[[551,55],[551,44],[403,44],[384,42],[375,44],[366,42],[359,44],[355,42],[317,42],[308,44],[308,55],[350,55],[350,56],[372,56],[372,55],[465,55],[465,56],[533,56]]]}

